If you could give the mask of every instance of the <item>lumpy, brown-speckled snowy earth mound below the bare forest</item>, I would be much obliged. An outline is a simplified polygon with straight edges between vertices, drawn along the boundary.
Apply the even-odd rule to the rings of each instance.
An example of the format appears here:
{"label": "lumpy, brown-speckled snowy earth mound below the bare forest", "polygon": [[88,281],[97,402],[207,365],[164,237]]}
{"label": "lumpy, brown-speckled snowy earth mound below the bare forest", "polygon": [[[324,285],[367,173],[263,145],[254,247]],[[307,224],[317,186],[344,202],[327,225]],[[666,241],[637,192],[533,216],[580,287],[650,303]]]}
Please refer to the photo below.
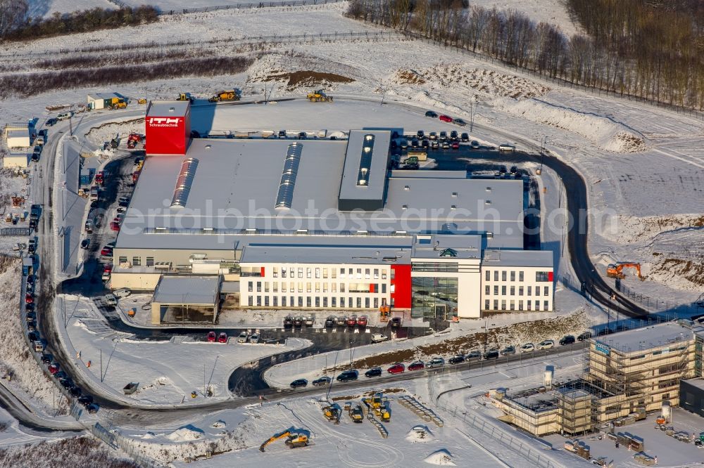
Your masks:
{"label": "lumpy, brown-speckled snowy earth mound below the bare forest", "polygon": [[433,91],[447,89],[463,94],[480,93],[485,96],[514,99],[535,98],[550,91],[546,86],[529,79],[460,64],[436,65],[419,70],[396,70],[389,77],[389,81],[394,84],[425,85]]}

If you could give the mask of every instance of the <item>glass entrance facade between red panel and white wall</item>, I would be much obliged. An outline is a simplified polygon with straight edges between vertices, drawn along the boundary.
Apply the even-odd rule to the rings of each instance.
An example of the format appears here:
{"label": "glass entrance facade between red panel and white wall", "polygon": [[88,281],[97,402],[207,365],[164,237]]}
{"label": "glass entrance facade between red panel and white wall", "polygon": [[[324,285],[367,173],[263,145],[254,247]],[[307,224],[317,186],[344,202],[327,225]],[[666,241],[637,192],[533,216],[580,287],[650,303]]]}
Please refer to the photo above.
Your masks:
{"label": "glass entrance facade between red panel and white wall", "polygon": [[457,278],[411,278],[415,317],[450,320],[457,316]]}

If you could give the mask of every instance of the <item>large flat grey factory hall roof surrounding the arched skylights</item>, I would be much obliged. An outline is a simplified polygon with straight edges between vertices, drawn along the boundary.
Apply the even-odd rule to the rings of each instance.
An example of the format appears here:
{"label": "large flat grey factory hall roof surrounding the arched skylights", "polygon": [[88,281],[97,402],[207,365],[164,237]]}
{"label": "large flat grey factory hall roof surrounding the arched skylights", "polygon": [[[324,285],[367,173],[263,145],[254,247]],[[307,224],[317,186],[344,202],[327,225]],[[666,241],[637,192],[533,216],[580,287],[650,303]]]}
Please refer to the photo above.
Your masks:
{"label": "large flat grey factory hall roof surrounding the arched skylights", "polygon": [[[383,211],[341,212],[347,142],[296,143],[300,159],[290,209],[284,210],[275,206],[291,140],[196,139],[186,156],[147,157],[117,247],[232,249],[247,229],[387,235],[491,231],[489,247],[523,247],[522,181],[391,177]],[[198,160],[187,201],[171,207],[186,157]]]}

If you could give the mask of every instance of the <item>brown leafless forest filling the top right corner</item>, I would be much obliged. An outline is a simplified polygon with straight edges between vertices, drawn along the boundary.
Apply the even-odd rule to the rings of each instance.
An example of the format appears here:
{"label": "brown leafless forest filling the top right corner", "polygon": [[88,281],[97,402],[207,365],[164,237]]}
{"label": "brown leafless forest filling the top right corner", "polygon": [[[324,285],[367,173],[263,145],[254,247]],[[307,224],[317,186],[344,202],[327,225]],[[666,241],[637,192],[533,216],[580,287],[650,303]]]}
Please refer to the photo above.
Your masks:
{"label": "brown leafless forest filling the top right corner", "polygon": [[347,14],[547,77],[704,109],[704,29],[691,11],[653,0],[567,4],[589,35],[463,0],[351,0]]}

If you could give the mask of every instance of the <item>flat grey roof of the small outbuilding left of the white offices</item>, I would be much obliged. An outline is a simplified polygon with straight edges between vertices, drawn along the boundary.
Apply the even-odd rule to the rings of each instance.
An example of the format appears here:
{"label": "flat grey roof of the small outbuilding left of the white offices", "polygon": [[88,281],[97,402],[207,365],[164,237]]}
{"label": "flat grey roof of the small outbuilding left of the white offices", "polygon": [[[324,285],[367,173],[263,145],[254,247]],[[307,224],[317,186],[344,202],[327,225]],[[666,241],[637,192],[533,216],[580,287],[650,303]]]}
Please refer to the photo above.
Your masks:
{"label": "flat grey roof of the small outbuilding left of the white offices", "polygon": [[219,276],[162,276],[154,290],[159,304],[218,304]]}

